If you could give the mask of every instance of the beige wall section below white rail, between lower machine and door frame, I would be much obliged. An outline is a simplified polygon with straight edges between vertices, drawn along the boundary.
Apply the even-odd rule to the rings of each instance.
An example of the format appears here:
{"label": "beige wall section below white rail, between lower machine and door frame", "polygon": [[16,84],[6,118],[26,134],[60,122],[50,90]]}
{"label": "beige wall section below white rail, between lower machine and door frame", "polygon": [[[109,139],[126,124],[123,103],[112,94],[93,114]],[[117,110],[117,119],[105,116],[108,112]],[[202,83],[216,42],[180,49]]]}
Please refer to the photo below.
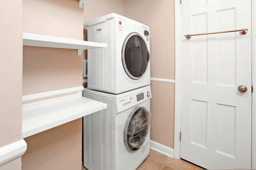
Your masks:
{"label": "beige wall section below white rail, between lower machine and door frame", "polygon": [[174,148],[174,84],[151,82],[150,139]]}

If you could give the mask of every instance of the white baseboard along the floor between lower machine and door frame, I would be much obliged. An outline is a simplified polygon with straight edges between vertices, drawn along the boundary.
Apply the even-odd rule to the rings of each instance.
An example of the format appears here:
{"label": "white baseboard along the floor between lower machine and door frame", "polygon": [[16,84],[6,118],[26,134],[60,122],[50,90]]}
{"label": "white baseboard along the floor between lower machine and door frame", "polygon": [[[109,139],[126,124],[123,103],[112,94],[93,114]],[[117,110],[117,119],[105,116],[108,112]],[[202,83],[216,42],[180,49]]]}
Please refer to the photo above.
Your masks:
{"label": "white baseboard along the floor between lower machine and door frame", "polygon": [[174,158],[174,149],[166,147],[165,145],[162,145],[155,141],[150,141],[150,149],[155,150],[156,152],[159,152],[166,156],[169,156],[170,158]]}

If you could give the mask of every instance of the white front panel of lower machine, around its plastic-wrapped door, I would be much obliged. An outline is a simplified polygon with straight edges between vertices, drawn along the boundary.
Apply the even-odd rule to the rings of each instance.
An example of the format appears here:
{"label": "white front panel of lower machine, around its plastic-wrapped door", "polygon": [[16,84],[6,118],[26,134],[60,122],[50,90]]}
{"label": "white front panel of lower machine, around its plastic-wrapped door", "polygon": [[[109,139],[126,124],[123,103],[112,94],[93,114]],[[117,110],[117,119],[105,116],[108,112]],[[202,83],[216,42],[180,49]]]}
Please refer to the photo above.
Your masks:
{"label": "white front panel of lower machine, around its plastic-wrapped door", "polygon": [[[142,147],[134,152],[128,151],[124,144],[124,127],[128,116],[132,110],[137,107],[145,107],[150,111],[150,100],[138,104],[132,108],[122,111],[116,115],[115,121],[115,169],[116,170],[134,170],[145,160],[150,153],[150,126]],[[136,160],[136,162],[134,162]],[[134,162],[131,164],[131,162]]]}

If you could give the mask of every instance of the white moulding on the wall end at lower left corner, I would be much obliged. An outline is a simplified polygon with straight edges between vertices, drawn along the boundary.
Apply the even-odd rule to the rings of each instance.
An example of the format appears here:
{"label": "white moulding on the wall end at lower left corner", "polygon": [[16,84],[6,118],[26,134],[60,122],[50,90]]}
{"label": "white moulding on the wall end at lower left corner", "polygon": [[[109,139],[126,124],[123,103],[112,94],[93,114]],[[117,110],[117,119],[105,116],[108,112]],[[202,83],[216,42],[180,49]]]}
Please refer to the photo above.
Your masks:
{"label": "white moulding on the wall end at lower left corner", "polygon": [[0,148],[0,166],[22,156],[27,150],[24,139]]}

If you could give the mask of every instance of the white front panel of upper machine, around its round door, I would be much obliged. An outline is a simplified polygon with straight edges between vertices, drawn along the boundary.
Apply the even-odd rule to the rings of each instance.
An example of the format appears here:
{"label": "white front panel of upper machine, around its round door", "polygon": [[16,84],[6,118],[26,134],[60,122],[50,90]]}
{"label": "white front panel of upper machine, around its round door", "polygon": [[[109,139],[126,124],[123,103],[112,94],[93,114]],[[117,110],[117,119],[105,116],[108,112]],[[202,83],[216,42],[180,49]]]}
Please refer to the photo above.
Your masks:
{"label": "white front panel of upper machine, around its round door", "polygon": [[[150,58],[148,61],[148,66],[146,68],[146,71],[144,72],[144,75],[138,79],[138,80],[134,80],[132,78],[130,78],[125,70],[124,70],[124,66],[122,63],[122,48],[124,45],[124,41],[126,39],[126,37],[130,34],[130,33],[134,33],[134,30],[136,30],[136,33],[139,33],[141,35],[141,37],[144,39],[146,46],[148,48],[148,53],[150,55],[150,36],[146,37],[144,35],[144,31],[147,30],[149,32],[148,28],[143,27],[144,25],[141,23],[137,23],[134,21],[130,21],[130,20],[121,20],[118,19],[118,21],[122,22],[122,27],[119,26],[122,29],[117,29],[117,36],[119,37],[118,39],[116,39],[117,43],[116,43],[116,70],[120,70],[120,72],[116,72],[116,78],[117,78],[117,84],[116,84],[116,92],[117,94],[123,91],[128,91],[130,89],[136,89],[142,86],[146,86],[150,84]],[[132,25],[129,26],[129,25]],[[125,83],[124,83],[125,82]]]}

